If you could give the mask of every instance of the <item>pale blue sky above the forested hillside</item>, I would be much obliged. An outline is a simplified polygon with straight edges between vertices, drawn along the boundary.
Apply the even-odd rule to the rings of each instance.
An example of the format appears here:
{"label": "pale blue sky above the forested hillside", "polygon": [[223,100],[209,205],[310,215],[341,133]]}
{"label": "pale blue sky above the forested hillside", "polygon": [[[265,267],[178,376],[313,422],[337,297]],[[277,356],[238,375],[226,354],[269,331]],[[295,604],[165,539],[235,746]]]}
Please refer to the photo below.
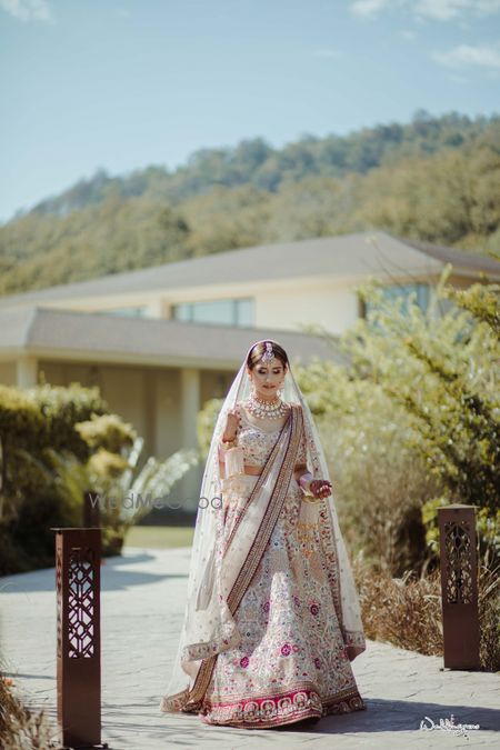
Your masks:
{"label": "pale blue sky above the forested hillside", "polygon": [[0,220],[96,169],[500,110],[500,0],[0,0]]}

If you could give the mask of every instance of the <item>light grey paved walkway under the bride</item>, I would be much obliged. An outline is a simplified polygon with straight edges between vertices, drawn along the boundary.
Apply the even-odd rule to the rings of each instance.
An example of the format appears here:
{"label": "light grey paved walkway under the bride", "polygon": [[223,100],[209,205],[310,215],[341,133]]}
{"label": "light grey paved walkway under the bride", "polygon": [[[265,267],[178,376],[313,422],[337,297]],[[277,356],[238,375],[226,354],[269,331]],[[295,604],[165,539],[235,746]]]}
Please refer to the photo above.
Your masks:
{"label": "light grey paved walkway under the bride", "polygon": [[[312,728],[207,727],[192,714],[158,710],[177,649],[189,549],[127,548],[102,566],[102,741],[110,750],[159,748],[476,748],[500,747],[498,674],[442,670],[442,659],[368,642],[352,667],[368,710],[327,717]],[[56,722],[53,568],[0,579],[0,650],[33,707]],[[479,724],[467,736],[439,727]],[[426,720],[430,726],[430,722]]]}

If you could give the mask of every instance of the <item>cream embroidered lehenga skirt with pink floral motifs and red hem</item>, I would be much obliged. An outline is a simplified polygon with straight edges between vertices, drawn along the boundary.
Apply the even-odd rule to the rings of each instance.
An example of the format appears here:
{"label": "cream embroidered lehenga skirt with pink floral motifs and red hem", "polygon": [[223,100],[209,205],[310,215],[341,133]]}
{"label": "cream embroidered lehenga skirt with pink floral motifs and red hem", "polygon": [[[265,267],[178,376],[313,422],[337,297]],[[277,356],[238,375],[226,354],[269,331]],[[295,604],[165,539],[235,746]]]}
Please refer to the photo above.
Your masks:
{"label": "cream embroidered lehenga skirt with pink floral motifs and red hem", "polygon": [[[224,537],[247,490],[224,493]],[[307,718],[366,709],[327,576],[314,526],[303,523],[301,491],[292,479],[257,571],[234,613],[237,649],[218,654],[201,704],[210,724],[272,728]],[[300,518],[299,518],[300,516]]]}

